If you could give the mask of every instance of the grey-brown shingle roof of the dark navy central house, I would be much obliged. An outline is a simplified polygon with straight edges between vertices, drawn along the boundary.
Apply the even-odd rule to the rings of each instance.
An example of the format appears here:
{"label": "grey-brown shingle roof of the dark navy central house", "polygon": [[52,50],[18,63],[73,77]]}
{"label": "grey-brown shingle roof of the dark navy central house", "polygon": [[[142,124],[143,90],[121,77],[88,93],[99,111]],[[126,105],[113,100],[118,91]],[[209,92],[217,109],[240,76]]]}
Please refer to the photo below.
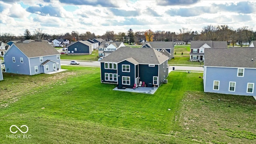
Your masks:
{"label": "grey-brown shingle roof of the dark navy central house", "polygon": [[120,62],[127,58],[133,58],[140,64],[162,64],[169,58],[154,48],[130,48],[120,47],[101,62]]}

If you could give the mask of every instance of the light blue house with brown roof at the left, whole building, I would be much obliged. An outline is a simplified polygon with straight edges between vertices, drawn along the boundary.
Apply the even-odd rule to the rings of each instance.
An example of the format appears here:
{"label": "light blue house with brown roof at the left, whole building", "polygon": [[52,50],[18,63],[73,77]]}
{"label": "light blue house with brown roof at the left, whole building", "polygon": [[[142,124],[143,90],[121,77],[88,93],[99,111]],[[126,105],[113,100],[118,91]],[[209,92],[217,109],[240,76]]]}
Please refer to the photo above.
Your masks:
{"label": "light blue house with brown roof at the left, whole building", "polygon": [[59,70],[60,53],[47,42],[17,43],[4,54],[5,72],[34,75]]}

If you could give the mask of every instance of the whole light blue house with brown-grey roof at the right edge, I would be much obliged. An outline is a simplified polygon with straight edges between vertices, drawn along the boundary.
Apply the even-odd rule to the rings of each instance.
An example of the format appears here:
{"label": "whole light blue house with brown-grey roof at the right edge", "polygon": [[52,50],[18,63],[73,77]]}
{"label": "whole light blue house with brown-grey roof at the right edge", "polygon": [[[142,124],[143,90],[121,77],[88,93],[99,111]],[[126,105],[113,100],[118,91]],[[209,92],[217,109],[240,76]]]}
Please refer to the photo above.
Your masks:
{"label": "whole light blue house with brown-grey roof at the right edge", "polygon": [[204,92],[256,96],[256,48],[206,48]]}

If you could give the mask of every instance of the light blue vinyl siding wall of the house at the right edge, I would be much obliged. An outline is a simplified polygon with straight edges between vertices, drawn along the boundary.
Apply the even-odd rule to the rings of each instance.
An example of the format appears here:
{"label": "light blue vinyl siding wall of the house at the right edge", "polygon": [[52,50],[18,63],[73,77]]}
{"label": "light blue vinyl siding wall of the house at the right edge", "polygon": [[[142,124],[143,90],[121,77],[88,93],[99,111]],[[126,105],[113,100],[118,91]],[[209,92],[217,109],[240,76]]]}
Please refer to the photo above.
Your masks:
{"label": "light blue vinyl siding wall of the house at the right edge", "polygon": [[[256,69],[244,68],[244,76],[237,76],[238,68],[204,68],[204,92],[256,96]],[[213,90],[214,80],[220,81],[219,90]],[[236,82],[235,92],[229,91],[229,82]],[[254,93],[247,93],[247,83],[254,83]]]}

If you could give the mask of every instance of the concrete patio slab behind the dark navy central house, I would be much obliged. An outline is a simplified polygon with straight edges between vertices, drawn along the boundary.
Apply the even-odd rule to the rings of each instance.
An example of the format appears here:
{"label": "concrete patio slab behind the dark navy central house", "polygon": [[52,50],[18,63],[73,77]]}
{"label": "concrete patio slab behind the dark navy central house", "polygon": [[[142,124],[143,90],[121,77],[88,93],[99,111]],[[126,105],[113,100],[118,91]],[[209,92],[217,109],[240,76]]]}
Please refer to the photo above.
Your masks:
{"label": "concrete patio slab behind the dark navy central house", "polygon": [[113,90],[124,91],[124,92],[137,92],[143,94],[154,94],[158,87],[150,88],[150,87],[137,87],[137,88],[126,88],[126,89],[118,89],[117,87]]}

